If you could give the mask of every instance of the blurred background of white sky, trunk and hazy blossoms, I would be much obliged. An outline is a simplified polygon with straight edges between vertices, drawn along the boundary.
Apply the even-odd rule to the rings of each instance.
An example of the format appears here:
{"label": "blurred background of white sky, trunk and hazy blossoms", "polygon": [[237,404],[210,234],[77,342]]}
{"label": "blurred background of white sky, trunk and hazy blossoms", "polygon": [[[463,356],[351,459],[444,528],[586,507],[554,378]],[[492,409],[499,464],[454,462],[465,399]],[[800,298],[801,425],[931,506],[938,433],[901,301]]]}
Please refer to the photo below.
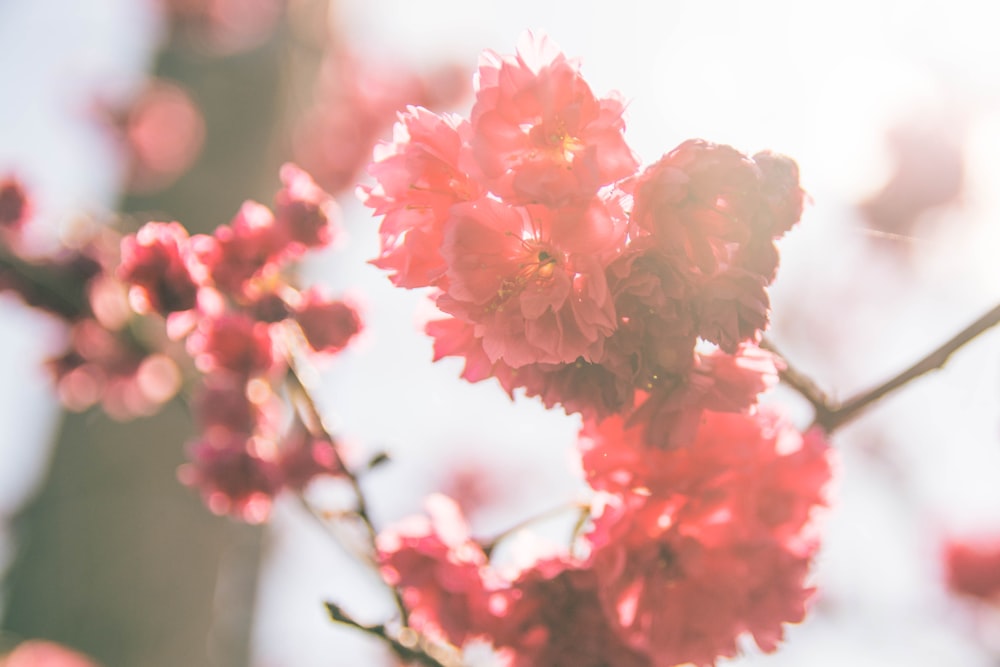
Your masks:
{"label": "blurred background of white sky, trunk and hazy blossoms", "polygon": [[[973,0],[0,0],[0,177],[29,189],[46,253],[84,221],[210,230],[299,162],[343,208],[305,275],[363,304],[318,398],[357,460],[392,454],[366,478],[376,522],[441,490],[491,535],[580,492],[578,423],[431,364],[422,295],[366,264],[377,221],[353,190],[395,111],[467,111],[479,52],[531,28],[629,100],[644,163],[691,137],[794,157],[810,202],[768,336],[846,398],[1000,302],[997,18]],[[323,600],[371,622],[389,601],[312,517],[212,516],[176,480],[182,410],[62,412],[44,362],[65,332],[9,294],[0,316],[0,653],[39,637],[107,667],[391,664],[327,620]],[[790,391],[766,400],[808,423]],[[834,443],[813,610],[733,663],[1000,664],[997,607],[950,593],[942,566],[947,541],[1000,535],[1000,333]]]}

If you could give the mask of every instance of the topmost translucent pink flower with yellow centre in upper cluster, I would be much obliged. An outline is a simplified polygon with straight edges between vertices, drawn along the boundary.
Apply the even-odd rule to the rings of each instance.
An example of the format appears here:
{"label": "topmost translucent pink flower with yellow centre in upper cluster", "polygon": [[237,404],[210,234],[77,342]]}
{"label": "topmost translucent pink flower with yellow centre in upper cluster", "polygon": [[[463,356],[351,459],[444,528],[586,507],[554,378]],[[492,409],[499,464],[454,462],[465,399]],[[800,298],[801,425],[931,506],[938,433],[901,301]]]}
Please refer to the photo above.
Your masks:
{"label": "topmost translucent pink flower with yellow centre in upper cluster", "polygon": [[487,51],[477,74],[472,151],[484,182],[514,204],[563,206],[632,175],[625,105],[597,98],[545,36],[525,33],[515,56]]}

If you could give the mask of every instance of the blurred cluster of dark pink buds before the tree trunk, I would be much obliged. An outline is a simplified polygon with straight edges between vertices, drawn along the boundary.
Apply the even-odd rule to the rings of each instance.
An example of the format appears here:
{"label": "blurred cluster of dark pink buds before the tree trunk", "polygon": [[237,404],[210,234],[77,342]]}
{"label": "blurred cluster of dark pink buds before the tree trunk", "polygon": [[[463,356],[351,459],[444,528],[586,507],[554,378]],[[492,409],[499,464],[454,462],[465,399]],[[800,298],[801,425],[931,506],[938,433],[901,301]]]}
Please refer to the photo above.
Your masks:
{"label": "blurred cluster of dark pink buds before the tree trunk", "polygon": [[49,362],[64,405],[129,419],[158,411],[186,381],[199,435],[180,477],[213,511],[247,521],[265,519],[280,490],[341,474],[332,437],[290,416],[282,387],[296,360],[337,353],[361,330],[349,303],[286,275],[333,239],[338,209],[298,167],[281,179],[273,210],[248,201],[212,234],[150,222],[44,259],[20,249],[23,188],[0,187],[0,289],[65,322],[67,349]]}

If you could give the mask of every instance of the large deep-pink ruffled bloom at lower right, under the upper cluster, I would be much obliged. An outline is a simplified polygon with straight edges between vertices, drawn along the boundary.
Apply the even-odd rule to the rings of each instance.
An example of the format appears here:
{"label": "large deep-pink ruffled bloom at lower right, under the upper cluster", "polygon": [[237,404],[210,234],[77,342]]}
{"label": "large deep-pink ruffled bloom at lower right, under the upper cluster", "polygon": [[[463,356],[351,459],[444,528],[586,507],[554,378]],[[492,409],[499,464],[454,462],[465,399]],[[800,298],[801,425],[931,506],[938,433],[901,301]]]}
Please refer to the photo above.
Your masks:
{"label": "large deep-pink ruffled bloom at lower right, under the upper cluster", "polygon": [[663,450],[611,418],[584,427],[590,483],[609,494],[588,536],[606,612],[653,664],[714,665],[748,632],[773,651],[798,622],[830,450],[770,413],[705,412]]}

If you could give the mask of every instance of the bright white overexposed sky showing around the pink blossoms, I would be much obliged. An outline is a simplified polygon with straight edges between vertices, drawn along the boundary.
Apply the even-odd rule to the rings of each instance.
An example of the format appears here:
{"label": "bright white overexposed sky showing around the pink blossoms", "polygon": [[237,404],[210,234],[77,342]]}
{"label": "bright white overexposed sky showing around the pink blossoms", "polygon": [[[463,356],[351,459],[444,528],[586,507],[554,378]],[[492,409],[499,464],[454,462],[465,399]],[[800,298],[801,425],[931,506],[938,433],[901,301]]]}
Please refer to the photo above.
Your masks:
{"label": "bright white overexposed sky showing around the pink blossoms", "polygon": [[[111,157],[72,129],[72,110],[84,89],[107,77],[127,87],[145,67],[153,29],[138,5],[0,0],[0,172],[21,171],[53,224],[112,199]],[[525,28],[548,32],[581,59],[595,92],[630,100],[627,137],[647,163],[690,137],[793,156],[813,203],[782,246],[771,337],[838,395],[895,373],[1000,301],[1000,10],[990,3],[338,5],[359,48],[413,60],[464,58],[471,67],[482,48],[510,52]],[[961,207],[936,214],[940,231],[899,240],[912,260],[892,260],[873,251],[851,205],[887,177],[885,129],[922,106],[962,133],[969,178]],[[417,296],[363,265],[376,225],[357,205],[345,203],[345,214],[349,244],[314,273],[366,300],[368,329],[357,349],[321,369],[321,399],[359,457],[379,447],[395,455],[371,479],[377,518],[417,511],[449,466],[476,461],[489,472],[487,494],[513,506],[474,516],[482,534],[571,497],[575,421],[531,401],[512,405],[492,383],[457,381],[455,364],[430,365],[430,343],[413,325]],[[54,409],[31,379],[42,325],[0,305],[0,511],[10,511],[37,474]],[[938,584],[935,549],[949,530],[1000,532],[1000,336],[971,344],[835,442],[841,471],[817,608],[782,650],[745,664],[991,664],[970,640],[971,615]],[[348,565],[294,508],[280,508],[273,538],[256,667],[372,664],[366,642],[333,629],[319,601],[373,622],[382,601],[344,574]]]}

